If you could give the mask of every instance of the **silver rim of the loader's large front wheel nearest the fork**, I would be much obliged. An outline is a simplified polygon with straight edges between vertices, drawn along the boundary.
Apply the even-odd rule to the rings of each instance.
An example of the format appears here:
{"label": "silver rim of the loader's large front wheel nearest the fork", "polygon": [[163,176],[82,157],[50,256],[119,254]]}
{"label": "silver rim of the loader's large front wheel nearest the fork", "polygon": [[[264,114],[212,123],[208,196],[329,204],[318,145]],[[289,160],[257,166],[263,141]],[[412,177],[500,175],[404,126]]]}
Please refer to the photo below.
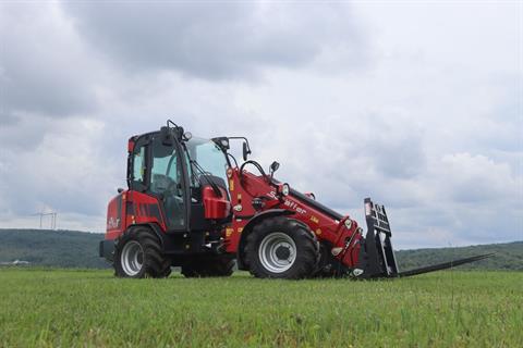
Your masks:
{"label": "silver rim of the loader's large front wheel nearest the fork", "polygon": [[294,240],[282,232],[267,235],[258,249],[262,265],[272,272],[282,273],[292,268],[296,260],[296,245]]}

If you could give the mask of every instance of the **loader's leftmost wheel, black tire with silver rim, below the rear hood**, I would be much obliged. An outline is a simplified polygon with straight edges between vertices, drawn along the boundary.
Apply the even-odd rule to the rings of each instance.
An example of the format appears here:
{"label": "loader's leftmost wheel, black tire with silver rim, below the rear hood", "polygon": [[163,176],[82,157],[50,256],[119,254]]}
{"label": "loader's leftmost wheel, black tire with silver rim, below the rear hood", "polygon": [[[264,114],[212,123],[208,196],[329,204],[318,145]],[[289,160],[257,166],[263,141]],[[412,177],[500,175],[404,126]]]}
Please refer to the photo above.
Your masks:
{"label": "loader's leftmost wheel, black tire with silver rim, below the rear hood", "polygon": [[[138,250],[137,263],[129,261],[131,249]],[[171,274],[171,260],[161,253],[160,240],[146,226],[131,227],[118,238],[113,266],[119,277],[163,278]]]}

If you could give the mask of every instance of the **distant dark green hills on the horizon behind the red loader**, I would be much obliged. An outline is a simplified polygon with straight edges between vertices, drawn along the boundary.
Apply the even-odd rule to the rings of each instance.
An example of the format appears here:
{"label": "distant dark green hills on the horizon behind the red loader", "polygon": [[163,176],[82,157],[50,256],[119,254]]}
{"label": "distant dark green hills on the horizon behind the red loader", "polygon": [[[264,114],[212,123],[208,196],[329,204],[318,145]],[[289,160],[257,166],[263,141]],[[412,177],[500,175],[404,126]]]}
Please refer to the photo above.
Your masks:
{"label": "distant dark green hills on the horizon behind the red loader", "polygon": [[[15,260],[31,265],[102,269],[109,264],[98,257],[101,234],[75,231],[1,229],[0,263]],[[523,241],[462,248],[435,248],[397,251],[400,271],[469,256],[497,252],[492,258],[460,269],[523,271]]]}

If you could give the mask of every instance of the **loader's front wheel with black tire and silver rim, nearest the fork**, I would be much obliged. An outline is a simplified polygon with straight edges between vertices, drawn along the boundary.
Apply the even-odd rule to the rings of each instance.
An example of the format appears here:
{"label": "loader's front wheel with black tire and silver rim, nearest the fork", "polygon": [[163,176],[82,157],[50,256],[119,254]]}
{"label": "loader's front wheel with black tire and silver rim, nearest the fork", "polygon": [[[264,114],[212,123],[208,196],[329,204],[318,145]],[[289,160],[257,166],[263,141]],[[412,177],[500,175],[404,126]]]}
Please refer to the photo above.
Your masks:
{"label": "loader's front wheel with black tire and silver rim, nearest the fork", "polygon": [[254,226],[246,238],[245,263],[256,277],[300,279],[312,276],[317,270],[318,241],[300,221],[267,217]]}

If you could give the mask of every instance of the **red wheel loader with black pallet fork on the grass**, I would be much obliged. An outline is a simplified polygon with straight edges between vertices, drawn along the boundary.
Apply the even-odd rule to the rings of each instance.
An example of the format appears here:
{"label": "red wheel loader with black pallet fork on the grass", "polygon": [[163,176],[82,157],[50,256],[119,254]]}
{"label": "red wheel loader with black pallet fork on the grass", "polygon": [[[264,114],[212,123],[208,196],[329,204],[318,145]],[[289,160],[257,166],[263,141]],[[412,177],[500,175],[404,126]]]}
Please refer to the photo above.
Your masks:
{"label": "red wheel loader with black pallet fork on the grass", "polygon": [[[230,152],[243,146],[241,165]],[[400,272],[384,206],[364,201],[367,231],[349,215],[273,177],[248,159],[244,137],[202,139],[172,121],[133,136],[127,189],[108,207],[99,254],[121,277],[229,276],[235,264],[256,277],[356,278],[414,275],[476,261],[477,256]]]}

